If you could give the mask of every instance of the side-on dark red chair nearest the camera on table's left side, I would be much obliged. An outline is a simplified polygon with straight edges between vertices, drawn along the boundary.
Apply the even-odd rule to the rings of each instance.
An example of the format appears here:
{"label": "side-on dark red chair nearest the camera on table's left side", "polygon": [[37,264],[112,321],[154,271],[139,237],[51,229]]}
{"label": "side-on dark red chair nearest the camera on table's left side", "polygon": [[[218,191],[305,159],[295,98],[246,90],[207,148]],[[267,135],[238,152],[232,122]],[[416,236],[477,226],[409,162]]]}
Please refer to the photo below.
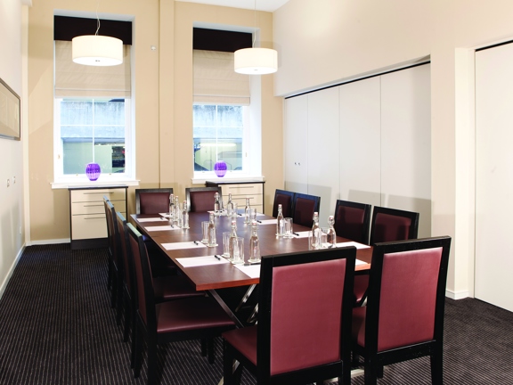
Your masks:
{"label": "side-on dark red chair nearest the camera on table's left side", "polygon": [[142,340],[148,354],[148,384],[158,378],[157,345],[177,340],[208,340],[208,360],[214,362],[212,339],[235,327],[230,316],[215,299],[190,297],[157,303],[146,246],[142,235],[127,225],[129,242],[134,256],[134,283],[137,312],[135,316],[134,377],[142,366]]}

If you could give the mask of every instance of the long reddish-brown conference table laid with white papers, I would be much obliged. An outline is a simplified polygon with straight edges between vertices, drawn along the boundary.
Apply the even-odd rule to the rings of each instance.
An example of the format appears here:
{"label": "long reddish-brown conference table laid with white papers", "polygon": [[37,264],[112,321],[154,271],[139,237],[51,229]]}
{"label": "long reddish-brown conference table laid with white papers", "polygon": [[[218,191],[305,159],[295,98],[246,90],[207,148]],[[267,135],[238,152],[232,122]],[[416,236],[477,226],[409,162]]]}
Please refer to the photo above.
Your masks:
{"label": "long reddish-brown conference table laid with white papers", "polygon": [[[215,217],[216,247],[206,247],[202,244],[201,222],[208,221],[208,212],[189,214],[189,229],[171,226],[167,213],[157,215],[133,214],[132,218],[137,228],[151,238],[167,257],[171,258],[183,274],[185,274],[197,291],[209,291],[231,287],[247,286],[259,283],[259,266],[232,265],[223,255],[223,233],[232,230],[232,217]],[[244,223],[240,214],[236,217],[237,235],[244,238],[244,259],[249,258],[249,237],[251,225]],[[294,225],[293,238],[276,236],[276,219],[258,214],[258,239],[262,257],[308,250],[306,233],[311,229]],[[175,243],[175,245],[173,245]],[[372,248],[360,243],[351,242],[346,238],[337,237],[338,247],[355,246],[357,264],[356,271],[367,270],[371,267]],[[203,258],[199,258],[203,257]],[[211,257],[210,259],[208,257]],[[196,258],[191,261],[185,258]]]}

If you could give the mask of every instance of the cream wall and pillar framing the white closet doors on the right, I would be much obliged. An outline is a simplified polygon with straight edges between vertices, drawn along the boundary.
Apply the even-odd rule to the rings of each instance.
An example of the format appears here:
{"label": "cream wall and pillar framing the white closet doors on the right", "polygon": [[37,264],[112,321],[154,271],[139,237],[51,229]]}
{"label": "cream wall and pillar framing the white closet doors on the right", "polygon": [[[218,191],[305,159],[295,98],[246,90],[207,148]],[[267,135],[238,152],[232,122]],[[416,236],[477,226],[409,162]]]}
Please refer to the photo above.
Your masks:
{"label": "cream wall and pillar framing the white closet doors on the right", "polygon": [[275,92],[297,94],[431,58],[433,235],[451,235],[447,289],[474,291],[472,50],[513,39],[510,0],[291,0],[274,12]]}

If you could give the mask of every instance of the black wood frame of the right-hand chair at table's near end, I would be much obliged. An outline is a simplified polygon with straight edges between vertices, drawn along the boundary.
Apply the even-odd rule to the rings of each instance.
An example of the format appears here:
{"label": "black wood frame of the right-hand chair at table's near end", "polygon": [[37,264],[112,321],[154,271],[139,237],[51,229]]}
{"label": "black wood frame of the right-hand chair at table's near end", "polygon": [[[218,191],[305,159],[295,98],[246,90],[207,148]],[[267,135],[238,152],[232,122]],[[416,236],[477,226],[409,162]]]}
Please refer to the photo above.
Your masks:
{"label": "black wood frame of the right-hand chair at table's near end", "polygon": [[[436,286],[435,330],[433,340],[379,352],[379,302],[384,255],[402,251],[433,248],[443,248]],[[377,243],[374,246],[371,262],[371,279],[368,291],[369,297],[367,299],[367,314],[365,316],[365,347],[361,347],[353,342],[354,361],[358,359],[358,356],[362,356],[365,360],[364,376],[366,385],[376,384],[377,379],[383,377],[384,365],[395,364],[420,356],[430,356],[432,383],[443,383],[445,286],[447,283],[450,248],[451,238],[448,236],[399,242],[383,242]]]}

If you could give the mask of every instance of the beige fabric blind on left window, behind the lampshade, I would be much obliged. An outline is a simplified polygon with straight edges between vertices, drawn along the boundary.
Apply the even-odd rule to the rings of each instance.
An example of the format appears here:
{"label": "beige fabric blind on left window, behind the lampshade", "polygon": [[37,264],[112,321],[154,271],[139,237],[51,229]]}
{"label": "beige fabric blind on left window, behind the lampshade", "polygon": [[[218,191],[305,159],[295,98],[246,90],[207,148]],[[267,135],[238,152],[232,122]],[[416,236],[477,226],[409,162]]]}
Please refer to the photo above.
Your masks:
{"label": "beige fabric blind on left window, behind the lampshade", "polygon": [[96,67],[71,59],[71,42],[55,40],[55,97],[130,97],[130,45],[123,64]]}

